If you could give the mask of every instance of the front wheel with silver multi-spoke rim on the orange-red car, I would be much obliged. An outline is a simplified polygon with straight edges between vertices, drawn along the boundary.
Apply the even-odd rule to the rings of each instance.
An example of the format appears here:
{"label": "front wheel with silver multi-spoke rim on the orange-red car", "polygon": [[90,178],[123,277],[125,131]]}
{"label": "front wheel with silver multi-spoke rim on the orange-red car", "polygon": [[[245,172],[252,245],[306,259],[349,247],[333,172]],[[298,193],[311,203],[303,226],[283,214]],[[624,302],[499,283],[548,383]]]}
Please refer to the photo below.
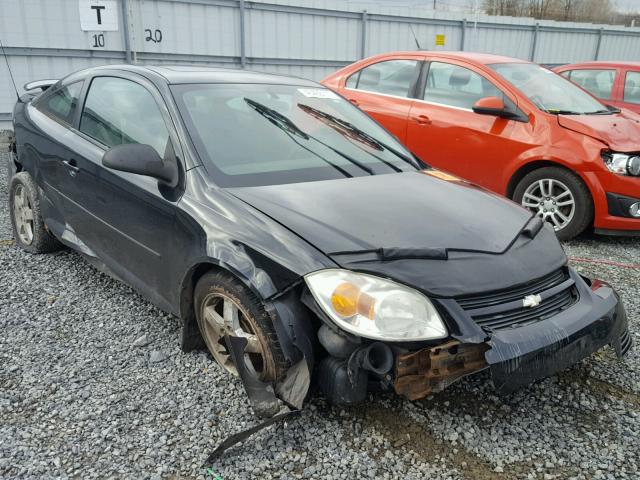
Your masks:
{"label": "front wheel with silver multi-spoke rim on the orange-red car", "polygon": [[525,175],[513,199],[549,222],[560,240],[580,235],[593,222],[589,189],[578,175],[560,167],[540,168]]}

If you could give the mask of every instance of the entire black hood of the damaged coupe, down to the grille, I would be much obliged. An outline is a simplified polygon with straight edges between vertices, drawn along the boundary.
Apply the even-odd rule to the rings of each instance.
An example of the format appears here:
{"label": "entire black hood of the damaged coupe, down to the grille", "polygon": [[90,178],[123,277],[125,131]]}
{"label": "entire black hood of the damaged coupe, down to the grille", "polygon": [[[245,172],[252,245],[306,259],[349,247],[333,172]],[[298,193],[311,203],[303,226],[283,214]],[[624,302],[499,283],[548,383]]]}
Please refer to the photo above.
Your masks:
{"label": "entire black hood of the damaged coupe, down to the grille", "polygon": [[[421,172],[230,192],[342,267],[384,275],[436,295],[507,288],[566,262],[550,229],[533,239],[521,235],[531,223],[529,211],[466,182]],[[378,249],[454,253],[446,260],[381,260],[357,253]]]}

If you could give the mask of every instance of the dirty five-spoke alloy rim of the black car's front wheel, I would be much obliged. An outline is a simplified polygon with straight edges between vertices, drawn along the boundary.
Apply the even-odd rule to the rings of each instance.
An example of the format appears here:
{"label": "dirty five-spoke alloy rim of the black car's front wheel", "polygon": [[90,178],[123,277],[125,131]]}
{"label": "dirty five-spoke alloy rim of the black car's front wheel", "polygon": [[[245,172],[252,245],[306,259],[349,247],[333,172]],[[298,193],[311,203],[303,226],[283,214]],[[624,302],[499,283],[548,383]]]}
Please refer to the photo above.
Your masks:
{"label": "dirty five-spoke alloy rim of the black car's front wheel", "polygon": [[238,375],[233,358],[227,348],[224,337],[244,337],[247,346],[244,362],[247,370],[259,379],[269,375],[265,361],[265,347],[249,320],[247,312],[232,298],[212,293],[202,303],[203,335],[215,360],[229,373]]}

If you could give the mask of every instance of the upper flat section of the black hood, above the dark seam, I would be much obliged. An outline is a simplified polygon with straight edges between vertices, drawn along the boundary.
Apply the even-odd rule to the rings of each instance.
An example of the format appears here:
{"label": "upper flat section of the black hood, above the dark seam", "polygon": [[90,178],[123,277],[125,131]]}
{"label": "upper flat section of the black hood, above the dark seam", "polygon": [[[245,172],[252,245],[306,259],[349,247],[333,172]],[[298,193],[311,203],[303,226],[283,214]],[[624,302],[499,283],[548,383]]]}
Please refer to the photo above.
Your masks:
{"label": "upper flat section of the black hood, above the dark seam", "polygon": [[327,255],[378,248],[501,252],[531,218],[485,190],[418,172],[231,192]]}

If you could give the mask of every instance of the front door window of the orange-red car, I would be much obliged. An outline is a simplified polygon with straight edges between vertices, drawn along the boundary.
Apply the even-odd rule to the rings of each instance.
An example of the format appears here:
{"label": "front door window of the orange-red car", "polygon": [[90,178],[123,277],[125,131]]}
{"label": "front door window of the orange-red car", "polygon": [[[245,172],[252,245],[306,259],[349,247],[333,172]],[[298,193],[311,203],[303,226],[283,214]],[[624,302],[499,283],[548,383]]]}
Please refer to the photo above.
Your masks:
{"label": "front door window of the orange-red car", "polygon": [[504,98],[493,83],[468,68],[431,62],[424,91],[427,102],[471,109],[484,97]]}

